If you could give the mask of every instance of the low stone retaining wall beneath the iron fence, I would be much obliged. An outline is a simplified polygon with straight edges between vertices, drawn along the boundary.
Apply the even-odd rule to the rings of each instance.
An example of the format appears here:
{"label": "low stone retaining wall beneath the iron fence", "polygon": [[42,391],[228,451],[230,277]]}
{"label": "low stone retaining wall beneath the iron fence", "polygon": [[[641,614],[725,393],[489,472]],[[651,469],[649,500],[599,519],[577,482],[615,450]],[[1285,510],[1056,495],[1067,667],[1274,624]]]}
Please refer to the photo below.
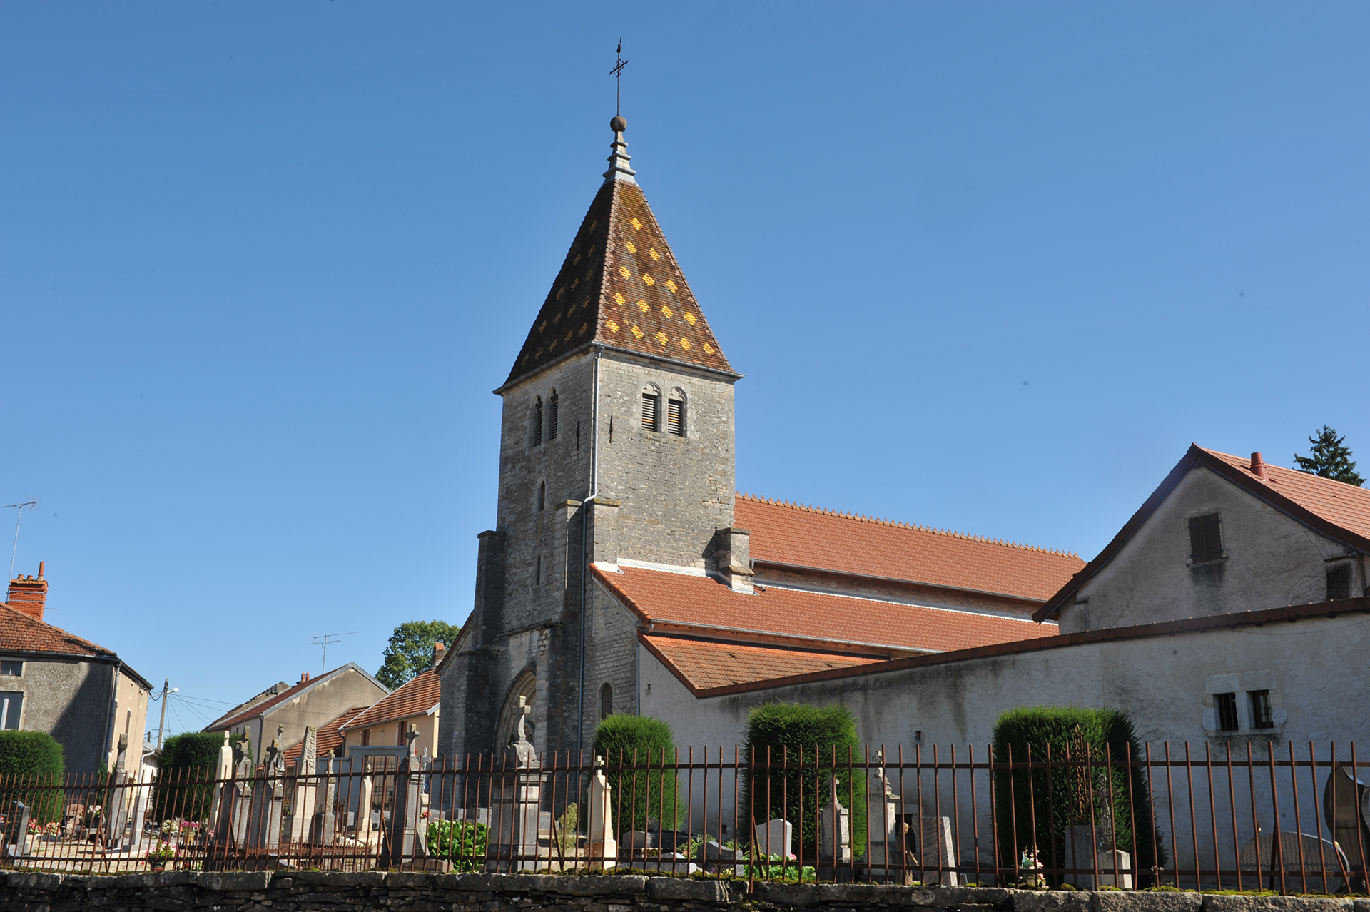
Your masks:
{"label": "low stone retaining wall beneath the iron fence", "polygon": [[992,887],[799,886],[664,876],[167,871],[0,874],[0,912],[1370,912],[1370,900]]}

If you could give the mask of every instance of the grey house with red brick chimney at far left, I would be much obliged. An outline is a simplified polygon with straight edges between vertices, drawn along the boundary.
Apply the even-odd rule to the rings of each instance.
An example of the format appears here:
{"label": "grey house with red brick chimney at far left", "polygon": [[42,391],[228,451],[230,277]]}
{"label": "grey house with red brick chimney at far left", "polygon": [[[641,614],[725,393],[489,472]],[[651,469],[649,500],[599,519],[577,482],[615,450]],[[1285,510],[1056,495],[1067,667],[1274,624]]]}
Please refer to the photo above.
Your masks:
{"label": "grey house with red brick chimney at far left", "polygon": [[11,579],[0,607],[0,729],[47,731],[67,772],[112,770],[119,735],[142,739],[152,685],[112,649],[44,620],[42,572]]}

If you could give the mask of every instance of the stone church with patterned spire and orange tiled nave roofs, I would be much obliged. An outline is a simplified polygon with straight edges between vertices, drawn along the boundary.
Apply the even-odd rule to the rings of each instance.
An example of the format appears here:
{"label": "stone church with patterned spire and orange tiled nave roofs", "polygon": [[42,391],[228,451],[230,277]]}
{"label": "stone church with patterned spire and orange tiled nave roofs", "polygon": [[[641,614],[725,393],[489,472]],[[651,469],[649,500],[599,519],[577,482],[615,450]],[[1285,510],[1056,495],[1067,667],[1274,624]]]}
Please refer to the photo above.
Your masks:
{"label": "stone church with patterned spire and orange tiled nave roofs", "polygon": [[648,705],[666,676],[764,689],[1054,635],[1033,613],[1084,567],[1075,555],[737,493],[741,374],[626,126],[610,123],[608,171],[495,390],[499,514],[438,670],[438,752],[501,750],[521,698],[537,750],[575,753],[611,712],[685,722]]}

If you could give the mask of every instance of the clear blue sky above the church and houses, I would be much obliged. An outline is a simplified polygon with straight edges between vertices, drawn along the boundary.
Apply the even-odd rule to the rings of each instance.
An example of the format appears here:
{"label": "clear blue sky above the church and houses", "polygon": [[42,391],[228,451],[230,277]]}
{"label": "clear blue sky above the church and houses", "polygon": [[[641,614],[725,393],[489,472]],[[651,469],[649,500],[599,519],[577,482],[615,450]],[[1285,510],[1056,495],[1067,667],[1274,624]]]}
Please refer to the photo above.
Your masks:
{"label": "clear blue sky above the church and houses", "polygon": [[1370,467],[1363,3],[10,0],[0,501],[49,620],[237,701],[466,618],[619,36],[740,489],[1089,557],[1191,441]]}

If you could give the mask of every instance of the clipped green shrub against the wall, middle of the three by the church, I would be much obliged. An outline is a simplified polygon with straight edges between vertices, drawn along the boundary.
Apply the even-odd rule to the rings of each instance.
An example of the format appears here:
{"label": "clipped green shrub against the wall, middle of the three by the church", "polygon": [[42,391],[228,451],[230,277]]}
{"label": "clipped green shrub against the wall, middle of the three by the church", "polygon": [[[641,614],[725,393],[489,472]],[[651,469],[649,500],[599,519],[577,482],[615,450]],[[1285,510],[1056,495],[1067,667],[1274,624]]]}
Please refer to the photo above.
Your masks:
{"label": "clipped green shrub against the wall, middle of the three by the church", "polygon": [[[837,778],[837,800],[851,809],[852,852],[860,857],[866,852],[866,776],[852,770],[854,761],[864,761],[856,738],[856,718],[843,705],[810,707],[807,704],[766,702],[747,716],[748,768],[752,757],[764,767],[784,760],[804,767],[785,772],[764,768],[743,776],[738,827],[751,839],[751,822],[758,826],[784,816],[795,827],[795,845],[810,859],[818,852],[818,808],[827,804],[829,779]],[[836,756],[836,764],[833,757]],[[834,770],[836,765],[836,770]],[[743,834],[738,834],[740,837]]]}

